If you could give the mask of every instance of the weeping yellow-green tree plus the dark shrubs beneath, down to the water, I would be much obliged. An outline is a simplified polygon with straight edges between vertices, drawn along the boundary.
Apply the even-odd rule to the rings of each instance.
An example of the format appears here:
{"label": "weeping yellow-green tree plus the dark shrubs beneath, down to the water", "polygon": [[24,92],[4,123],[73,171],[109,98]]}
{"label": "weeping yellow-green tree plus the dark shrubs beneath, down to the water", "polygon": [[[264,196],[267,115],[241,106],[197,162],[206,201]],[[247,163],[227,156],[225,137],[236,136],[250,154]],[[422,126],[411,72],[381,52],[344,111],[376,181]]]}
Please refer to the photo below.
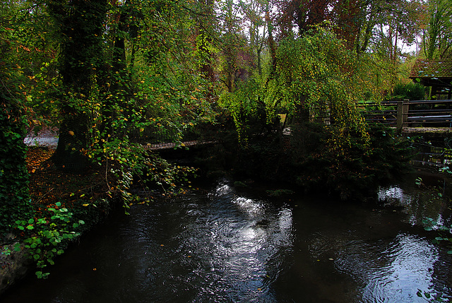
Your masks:
{"label": "weeping yellow-green tree plus the dark shrubs beneath, down to the water", "polygon": [[[407,171],[410,140],[367,126],[357,110],[358,102],[381,95],[382,82],[369,79],[369,70],[376,69],[372,60],[356,57],[328,26],[281,41],[275,70],[220,96],[246,147],[234,172],[307,190],[328,188],[349,199]],[[276,135],[278,124],[269,123],[277,112],[292,117],[289,146]]]}

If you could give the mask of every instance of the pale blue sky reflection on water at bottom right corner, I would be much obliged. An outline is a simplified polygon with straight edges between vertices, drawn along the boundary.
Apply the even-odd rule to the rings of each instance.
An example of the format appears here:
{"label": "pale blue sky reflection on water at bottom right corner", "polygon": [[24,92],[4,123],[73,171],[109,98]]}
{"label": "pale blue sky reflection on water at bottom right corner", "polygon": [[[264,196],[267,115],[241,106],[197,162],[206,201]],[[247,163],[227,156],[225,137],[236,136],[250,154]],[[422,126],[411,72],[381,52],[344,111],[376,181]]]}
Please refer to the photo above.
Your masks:
{"label": "pale blue sky reflection on water at bottom right corner", "polygon": [[[378,246],[379,244],[376,244]],[[434,290],[434,263],[439,251],[427,239],[411,234],[398,234],[384,251],[373,246],[343,251],[335,265],[362,282],[361,302],[425,302],[417,290]],[[356,246],[355,246],[356,247]]]}

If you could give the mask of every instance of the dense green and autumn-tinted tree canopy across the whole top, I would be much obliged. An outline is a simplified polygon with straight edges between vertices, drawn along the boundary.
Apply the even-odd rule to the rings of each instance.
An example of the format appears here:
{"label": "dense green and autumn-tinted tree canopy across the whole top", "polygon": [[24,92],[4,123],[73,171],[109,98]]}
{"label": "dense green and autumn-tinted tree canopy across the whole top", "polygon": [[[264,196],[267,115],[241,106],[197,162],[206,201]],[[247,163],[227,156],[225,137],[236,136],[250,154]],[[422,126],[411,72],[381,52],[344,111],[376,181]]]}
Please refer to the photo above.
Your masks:
{"label": "dense green and autumn-tinted tree canopy across the whole top", "polygon": [[[162,163],[143,142],[181,141],[219,114],[244,146],[278,114],[321,121],[337,146],[369,141],[357,103],[404,81],[417,53],[403,47],[449,58],[451,32],[447,0],[1,1],[3,119],[20,136],[57,126],[57,165],[99,165],[126,195]],[[173,184],[168,171],[147,174]]]}

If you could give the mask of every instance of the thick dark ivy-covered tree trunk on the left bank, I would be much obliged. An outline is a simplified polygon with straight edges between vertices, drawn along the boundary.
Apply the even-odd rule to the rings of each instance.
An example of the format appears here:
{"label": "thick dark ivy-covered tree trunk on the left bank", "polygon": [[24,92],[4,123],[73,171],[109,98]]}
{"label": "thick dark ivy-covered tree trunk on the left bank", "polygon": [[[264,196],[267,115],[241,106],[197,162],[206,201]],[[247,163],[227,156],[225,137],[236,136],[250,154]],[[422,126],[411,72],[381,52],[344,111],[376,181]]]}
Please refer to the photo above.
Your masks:
{"label": "thick dark ivy-covered tree trunk on the left bank", "polygon": [[61,169],[83,172],[88,161],[81,149],[87,145],[95,73],[104,59],[102,30],[107,1],[47,1],[47,4],[62,36],[59,67],[63,78],[59,97],[62,121],[53,160]]}

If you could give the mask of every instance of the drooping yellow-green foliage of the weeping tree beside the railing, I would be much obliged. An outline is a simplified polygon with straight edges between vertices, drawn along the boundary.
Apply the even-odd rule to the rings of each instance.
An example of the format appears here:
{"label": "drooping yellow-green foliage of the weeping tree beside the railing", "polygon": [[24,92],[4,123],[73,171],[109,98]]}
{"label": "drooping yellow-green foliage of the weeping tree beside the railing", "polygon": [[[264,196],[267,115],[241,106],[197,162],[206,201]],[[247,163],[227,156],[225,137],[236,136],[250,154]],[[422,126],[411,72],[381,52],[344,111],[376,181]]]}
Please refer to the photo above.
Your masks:
{"label": "drooping yellow-green foliage of the weeping tree beside the railing", "polygon": [[[232,112],[239,135],[243,136],[249,117],[256,115],[261,105],[268,122],[283,110],[296,124],[321,121],[331,126],[340,142],[347,141],[349,131],[367,141],[367,126],[357,102],[369,91],[378,92],[364,77],[362,61],[344,45],[345,41],[324,26],[281,41],[274,72],[267,66],[263,81],[251,78],[237,92],[224,93],[220,98]],[[270,60],[268,63],[272,64]]]}

